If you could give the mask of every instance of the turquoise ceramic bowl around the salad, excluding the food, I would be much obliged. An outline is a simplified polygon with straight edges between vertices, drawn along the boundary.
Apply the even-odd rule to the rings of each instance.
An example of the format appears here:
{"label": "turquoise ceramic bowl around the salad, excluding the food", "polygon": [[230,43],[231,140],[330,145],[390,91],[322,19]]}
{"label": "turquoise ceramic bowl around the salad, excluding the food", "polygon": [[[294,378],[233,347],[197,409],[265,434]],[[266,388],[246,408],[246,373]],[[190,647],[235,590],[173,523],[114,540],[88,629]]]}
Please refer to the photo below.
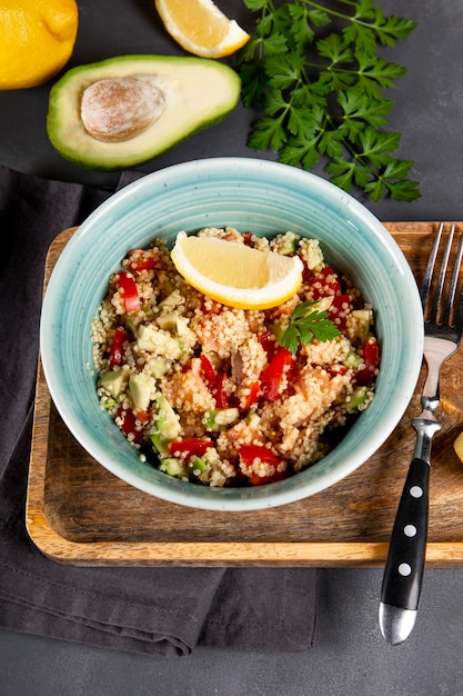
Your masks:
{"label": "turquoise ceramic bowl around the salad, excluding the food", "polygon": [[[141,463],[95,392],[90,324],[108,278],[131,248],[173,242],[203,227],[321,240],[325,257],[373,302],[382,359],[376,397],[322,461],[282,481],[209,488]],[[413,394],[423,321],[412,272],[393,238],[363,206],[328,181],[258,159],[197,160],[148,175],[112,196],[79,228],[51,276],[41,320],[41,357],[51,397],[87,451],[148,494],[202,509],[250,510],[311,496],[351,474],[384,443]]]}

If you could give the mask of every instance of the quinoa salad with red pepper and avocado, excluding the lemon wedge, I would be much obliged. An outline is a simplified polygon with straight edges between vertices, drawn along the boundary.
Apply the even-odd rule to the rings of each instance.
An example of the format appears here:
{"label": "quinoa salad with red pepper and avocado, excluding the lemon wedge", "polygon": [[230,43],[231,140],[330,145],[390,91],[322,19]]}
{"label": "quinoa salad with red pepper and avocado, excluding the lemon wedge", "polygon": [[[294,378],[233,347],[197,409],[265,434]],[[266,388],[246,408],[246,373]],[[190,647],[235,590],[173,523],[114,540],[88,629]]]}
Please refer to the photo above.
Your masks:
{"label": "quinoa salad with red pepper and avocado, excluding the lemon wedge", "polygon": [[374,398],[373,308],[316,239],[199,235],[298,255],[300,289],[272,309],[236,309],[191,287],[163,241],[129,251],[91,327],[100,406],[167,475],[214,487],[295,475]]}

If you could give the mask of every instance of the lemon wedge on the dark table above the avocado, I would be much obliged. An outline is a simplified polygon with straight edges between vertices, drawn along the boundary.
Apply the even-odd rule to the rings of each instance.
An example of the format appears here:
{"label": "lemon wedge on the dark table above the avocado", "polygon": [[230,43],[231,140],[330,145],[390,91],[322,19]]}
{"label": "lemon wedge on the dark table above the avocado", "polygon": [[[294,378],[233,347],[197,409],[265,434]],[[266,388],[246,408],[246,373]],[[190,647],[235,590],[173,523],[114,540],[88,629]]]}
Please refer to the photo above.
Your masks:
{"label": "lemon wedge on the dark table above the avocado", "polygon": [[171,37],[202,58],[230,56],[250,38],[212,0],[155,0],[155,8]]}

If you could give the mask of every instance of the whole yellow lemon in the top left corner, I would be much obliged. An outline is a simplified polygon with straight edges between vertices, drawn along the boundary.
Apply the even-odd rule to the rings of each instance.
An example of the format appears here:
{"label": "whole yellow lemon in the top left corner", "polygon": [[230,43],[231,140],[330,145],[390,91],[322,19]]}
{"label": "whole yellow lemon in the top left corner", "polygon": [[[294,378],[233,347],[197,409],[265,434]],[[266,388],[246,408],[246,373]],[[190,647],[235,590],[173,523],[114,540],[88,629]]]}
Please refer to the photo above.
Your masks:
{"label": "whole yellow lemon in the top left corner", "polygon": [[76,0],[0,0],[0,89],[37,87],[72,54]]}

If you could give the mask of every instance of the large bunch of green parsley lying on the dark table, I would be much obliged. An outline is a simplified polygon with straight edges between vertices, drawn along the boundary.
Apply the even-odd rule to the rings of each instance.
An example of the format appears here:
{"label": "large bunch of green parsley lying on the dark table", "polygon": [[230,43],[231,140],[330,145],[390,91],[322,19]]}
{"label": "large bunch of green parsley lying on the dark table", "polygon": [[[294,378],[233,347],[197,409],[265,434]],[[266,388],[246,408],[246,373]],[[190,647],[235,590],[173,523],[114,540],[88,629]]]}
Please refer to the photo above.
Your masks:
{"label": "large bunch of green parsley lying on the dark table", "polygon": [[394,156],[401,133],[384,130],[393,101],[383,90],[405,68],[378,54],[415,22],[385,17],[373,0],[244,2],[258,18],[238,54],[243,103],[262,112],[248,146],[304,169],[328,160],[333,183],[373,201],[419,198],[414,161]]}

